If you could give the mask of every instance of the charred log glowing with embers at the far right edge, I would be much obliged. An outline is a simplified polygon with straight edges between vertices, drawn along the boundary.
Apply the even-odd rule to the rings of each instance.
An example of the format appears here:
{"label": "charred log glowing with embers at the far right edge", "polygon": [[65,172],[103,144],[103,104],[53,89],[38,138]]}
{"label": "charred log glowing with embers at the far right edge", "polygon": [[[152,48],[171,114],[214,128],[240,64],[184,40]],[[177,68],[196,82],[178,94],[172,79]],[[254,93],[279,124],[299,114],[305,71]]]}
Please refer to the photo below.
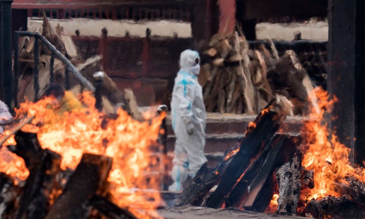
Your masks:
{"label": "charred log glowing with embers at the far right edge", "polygon": [[348,195],[356,201],[365,204],[365,183],[352,175],[346,175],[344,182],[335,182],[335,191],[341,195]]}

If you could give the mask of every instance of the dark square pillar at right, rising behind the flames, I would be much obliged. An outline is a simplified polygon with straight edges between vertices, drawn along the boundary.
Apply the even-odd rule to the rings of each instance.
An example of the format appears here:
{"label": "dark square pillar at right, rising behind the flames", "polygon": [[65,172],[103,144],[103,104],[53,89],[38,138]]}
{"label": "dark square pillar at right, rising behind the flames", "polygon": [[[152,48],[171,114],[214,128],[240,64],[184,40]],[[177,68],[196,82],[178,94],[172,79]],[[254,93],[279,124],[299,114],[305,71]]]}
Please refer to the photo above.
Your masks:
{"label": "dark square pillar at right, rising behind the flames", "polygon": [[[354,162],[355,143],[355,103],[364,102],[364,94],[355,99],[356,31],[364,26],[356,26],[356,0],[328,0],[328,80],[330,94],[338,98],[329,119],[332,131],[336,130],[339,141],[351,148],[350,161]],[[364,39],[358,39],[364,41]],[[364,65],[364,64],[363,64]],[[359,82],[364,87],[364,81]],[[357,84],[357,82],[356,82]],[[364,107],[364,106],[363,106]],[[364,113],[359,110],[358,113]],[[364,133],[358,133],[362,136]],[[364,147],[364,145],[362,146]]]}

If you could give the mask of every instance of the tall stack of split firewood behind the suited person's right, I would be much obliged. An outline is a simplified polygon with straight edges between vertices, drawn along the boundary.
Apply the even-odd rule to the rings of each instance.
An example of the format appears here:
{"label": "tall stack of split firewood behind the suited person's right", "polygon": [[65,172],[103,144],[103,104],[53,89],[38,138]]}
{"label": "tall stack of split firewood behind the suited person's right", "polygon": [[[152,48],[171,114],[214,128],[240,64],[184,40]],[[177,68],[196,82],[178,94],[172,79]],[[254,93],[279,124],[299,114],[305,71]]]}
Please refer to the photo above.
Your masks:
{"label": "tall stack of split firewood behind the suited person's right", "polygon": [[258,114],[277,94],[294,104],[294,113],[308,111],[313,86],[292,50],[279,57],[272,42],[271,51],[252,50],[237,32],[216,34],[199,50],[208,112]]}

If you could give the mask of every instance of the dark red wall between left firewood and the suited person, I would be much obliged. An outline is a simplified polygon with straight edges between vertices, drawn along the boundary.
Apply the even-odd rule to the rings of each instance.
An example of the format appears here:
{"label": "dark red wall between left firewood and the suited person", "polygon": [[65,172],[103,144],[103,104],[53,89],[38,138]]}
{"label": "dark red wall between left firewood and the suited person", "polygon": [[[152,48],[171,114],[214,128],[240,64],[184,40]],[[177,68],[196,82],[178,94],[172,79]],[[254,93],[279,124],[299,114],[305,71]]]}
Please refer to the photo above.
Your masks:
{"label": "dark red wall between left firewood and the suited person", "polygon": [[131,88],[140,105],[169,104],[180,53],[191,39],[74,36],[81,58],[102,54],[104,71],[118,88]]}

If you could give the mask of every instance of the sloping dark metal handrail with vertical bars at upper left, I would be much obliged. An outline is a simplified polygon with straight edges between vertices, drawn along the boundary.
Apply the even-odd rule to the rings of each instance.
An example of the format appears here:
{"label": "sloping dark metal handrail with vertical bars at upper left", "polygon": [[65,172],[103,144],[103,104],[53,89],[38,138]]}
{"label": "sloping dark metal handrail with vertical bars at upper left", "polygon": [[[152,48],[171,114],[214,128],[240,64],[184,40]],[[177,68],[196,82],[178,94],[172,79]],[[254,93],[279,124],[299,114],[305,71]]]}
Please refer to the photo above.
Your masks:
{"label": "sloping dark metal handrail with vertical bars at upper left", "polygon": [[65,88],[70,89],[70,81],[69,81],[69,72],[74,74],[74,76],[79,80],[81,86],[83,88],[88,88],[89,90],[95,92],[95,88],[91,83],[84,78],[78,69],[72,65],[72,63],[62,55],[55,47],[52,45],[44,36],[39,34],[38,32],[30,32],[30,31],[14,31],[14,106],[19,107],[18,103],[18,77],[20,74],[19,69],[19,45],[18,39],[19,36],[22,37],[34,37],[34,68],[33,68],[33,79],[34,79],[34,102],[38,101],[39,99],[39,70],[38,70],[38,63],[39,63],[39,41],[45,45],[48,49],[51,50],[51,61],[50,61],[50,83],[52,84],[54,81],[53,77],[53,63],[54,58],[59,59],[65,66]]}

